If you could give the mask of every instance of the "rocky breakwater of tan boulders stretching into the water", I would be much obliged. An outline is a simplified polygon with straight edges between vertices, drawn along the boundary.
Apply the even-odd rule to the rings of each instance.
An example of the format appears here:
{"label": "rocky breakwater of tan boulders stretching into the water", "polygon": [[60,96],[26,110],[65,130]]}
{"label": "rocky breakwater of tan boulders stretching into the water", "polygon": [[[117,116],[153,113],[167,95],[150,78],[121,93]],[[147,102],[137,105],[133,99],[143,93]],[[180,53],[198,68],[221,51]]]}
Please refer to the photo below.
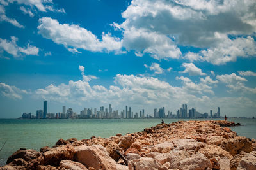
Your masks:
{"label": "rocky breakwater of tan boulders stretching into the water", "polygon": [[59,139],[52,148],[17,150],[3,169],[256,169],[256,141],[228,121],[180,121],[143,132]]}

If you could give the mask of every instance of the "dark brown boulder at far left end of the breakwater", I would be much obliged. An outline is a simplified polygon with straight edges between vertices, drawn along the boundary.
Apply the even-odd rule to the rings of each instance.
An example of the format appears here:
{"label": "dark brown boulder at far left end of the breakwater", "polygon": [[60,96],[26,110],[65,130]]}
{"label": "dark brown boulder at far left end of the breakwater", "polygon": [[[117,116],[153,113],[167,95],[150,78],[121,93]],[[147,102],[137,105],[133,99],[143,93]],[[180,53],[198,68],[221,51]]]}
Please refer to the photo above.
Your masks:
{"label": "dark brown boulder at far left end of the breakwater", "polygon": [[12,162],[14,159],[17,159],[17,158],[22,158],[25,161],[28,161],[31,159],[36,159],[40,155],[41,155],[41,153],[37,152],[36,150],[19,149],[15,153],[13,153],[10,157],[8,157],[6,164],[9,164],[10,162]]}

